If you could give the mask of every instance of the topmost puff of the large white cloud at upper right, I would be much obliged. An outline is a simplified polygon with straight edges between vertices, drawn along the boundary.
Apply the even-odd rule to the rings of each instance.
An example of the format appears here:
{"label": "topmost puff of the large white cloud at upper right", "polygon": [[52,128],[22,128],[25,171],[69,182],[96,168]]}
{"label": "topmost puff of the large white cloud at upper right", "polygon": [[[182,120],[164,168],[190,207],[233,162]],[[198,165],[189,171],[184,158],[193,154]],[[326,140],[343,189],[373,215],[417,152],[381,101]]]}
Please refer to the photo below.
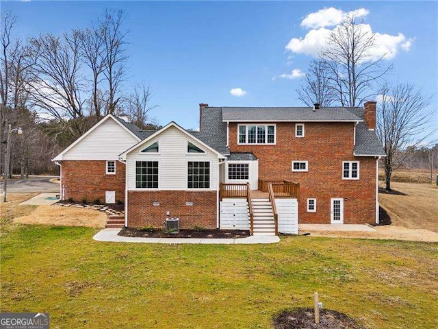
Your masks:
{"label": "topmost puff of the large white cloud at upper right", "polygon": [[365,17],[370,14],[369,10],[359,8],[351,12],[344,12],[336,8],[324,8],[318,12],[308,14],[302,20],[300,26],[308,29],[319,29],[320,27],[335,26],[342,22],[347,16],[354,15],[355,17]]}

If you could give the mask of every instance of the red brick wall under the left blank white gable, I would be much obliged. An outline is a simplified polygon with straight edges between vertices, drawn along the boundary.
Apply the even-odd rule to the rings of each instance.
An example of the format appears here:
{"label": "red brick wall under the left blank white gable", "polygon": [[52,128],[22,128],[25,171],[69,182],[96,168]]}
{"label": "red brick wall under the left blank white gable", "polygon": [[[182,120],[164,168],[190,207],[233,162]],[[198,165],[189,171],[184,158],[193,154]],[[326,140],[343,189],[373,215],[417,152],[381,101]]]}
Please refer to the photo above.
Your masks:
{"label": "red brick wall under the left blank white gable", "polygon": [[116,161],[115,175],[106,174],[105,161],[65,160],[61,165],[64,199],[105,202],[105,191],[116,191],[116,202],[125,202],[125,164]]}

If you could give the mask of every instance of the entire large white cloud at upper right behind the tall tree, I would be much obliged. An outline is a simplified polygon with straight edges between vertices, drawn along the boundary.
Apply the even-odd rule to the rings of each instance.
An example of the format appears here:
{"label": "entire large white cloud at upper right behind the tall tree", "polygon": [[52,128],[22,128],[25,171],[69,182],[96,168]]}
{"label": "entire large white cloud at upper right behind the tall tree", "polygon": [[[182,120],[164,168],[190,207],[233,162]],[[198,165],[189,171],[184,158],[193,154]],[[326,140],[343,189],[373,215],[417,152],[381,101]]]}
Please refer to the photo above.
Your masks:
{"label": "entire large white cloud at upper right behind the tall tree", "polygon": [[[286,49],[292,53],[302,53],[317,57],[320,51],[328,47],[328,39],[332,32],[341,33],[339,23],[348,14],[355,14],[357,17],[368,15],[369,11],[365,8],[343,12],[335,8],[327,8],[311,13],[302,20],[301,25],[311,29],[304,37],[292,38],[286,45]],[[328,26],[333,26],[326,28]],[[361,23],[357,25],[362,33],[371,35],[374,33],[370,24]],[[370,53],[366,54],[369,60],[376,60],[382,56],[385,59],[394,58],[400,49],[409,51],[414,38],[407,38],[404,34],[391,35],[375,32],[375,47]]]}

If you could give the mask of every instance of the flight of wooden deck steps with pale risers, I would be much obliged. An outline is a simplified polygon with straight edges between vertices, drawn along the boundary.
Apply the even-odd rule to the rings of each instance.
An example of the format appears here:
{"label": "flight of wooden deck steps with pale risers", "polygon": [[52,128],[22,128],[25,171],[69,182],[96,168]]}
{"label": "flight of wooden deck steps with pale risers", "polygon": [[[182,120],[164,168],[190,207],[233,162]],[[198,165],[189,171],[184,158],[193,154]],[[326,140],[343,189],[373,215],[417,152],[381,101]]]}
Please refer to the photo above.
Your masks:
{"label": "flight of wooden deck steps with pale risers", "polygon": [[253,235],[275,235],[274,211],[268,197],[253,197]]}

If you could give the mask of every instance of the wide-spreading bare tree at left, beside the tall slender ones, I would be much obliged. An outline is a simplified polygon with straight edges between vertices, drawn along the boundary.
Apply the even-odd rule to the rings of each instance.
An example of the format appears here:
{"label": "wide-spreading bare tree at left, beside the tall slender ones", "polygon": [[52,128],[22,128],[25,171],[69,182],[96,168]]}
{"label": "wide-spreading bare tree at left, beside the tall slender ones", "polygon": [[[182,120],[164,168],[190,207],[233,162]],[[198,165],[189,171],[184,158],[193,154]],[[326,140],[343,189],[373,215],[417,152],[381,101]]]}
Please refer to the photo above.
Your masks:
{"label": "wide-spreading bare tree at left, beside the tall slender ones", "polygon": [[83,116],[79,34],[53,34],[31,39],[35,57],[35,79],[31,90],[34,105],[55,119]]}

